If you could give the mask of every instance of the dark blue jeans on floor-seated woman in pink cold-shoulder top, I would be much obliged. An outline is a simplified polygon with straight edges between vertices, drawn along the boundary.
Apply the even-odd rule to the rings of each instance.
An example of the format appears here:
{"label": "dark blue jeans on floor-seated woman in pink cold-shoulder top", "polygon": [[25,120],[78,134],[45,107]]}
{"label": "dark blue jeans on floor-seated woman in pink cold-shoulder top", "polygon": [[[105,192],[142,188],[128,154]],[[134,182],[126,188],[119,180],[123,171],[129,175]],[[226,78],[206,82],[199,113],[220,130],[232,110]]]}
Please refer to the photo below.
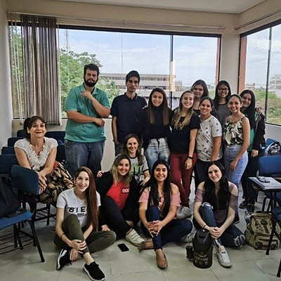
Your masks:
{"label": "dark blue jeans on floor-seated woman in pink cold-shoulder top", "polygon": [[[161,220],[160,212],[157,206],[148,207],[146,210],[146,218],[148,221]],[[141,223],[143,232],[148,234],[148,230]],[[160,230],[159,234],[152,238],[155,250],[162,249],[162,246],[169,242],[177,242],[181,237],[188,235],[192,230],[192,223],[187,219],[173,219]]]}

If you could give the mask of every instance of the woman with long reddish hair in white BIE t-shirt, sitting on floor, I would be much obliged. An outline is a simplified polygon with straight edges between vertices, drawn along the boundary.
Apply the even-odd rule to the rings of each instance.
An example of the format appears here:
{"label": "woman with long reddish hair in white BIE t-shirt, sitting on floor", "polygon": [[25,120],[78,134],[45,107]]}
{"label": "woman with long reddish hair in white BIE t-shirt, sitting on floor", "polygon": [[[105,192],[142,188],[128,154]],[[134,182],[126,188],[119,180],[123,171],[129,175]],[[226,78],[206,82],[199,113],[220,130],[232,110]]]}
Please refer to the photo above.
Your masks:
{"label": "woman with long reddish hair in white BIE t-shirt, sitting on floor", "polygon": [[93,260],[92,253],[113,244],[116,235],[112,231],[98,230],[100,195],[96,192],[93,173],[81,166],[77,170],[75,188],[58,196],[55,224],[55,244],[62,248],[58,256],[57,270],[83,256],[83,271],[91,280],[104,280],[105,275]]}

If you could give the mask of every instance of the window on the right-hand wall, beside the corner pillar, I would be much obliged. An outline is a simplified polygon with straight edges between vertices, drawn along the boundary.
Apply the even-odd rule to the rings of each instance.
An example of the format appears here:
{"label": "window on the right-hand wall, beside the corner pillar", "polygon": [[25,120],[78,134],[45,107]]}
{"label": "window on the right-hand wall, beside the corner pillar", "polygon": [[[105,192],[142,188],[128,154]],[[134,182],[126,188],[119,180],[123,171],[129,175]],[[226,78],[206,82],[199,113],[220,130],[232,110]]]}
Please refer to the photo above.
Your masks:
{"label": "window on the right-hand wall, beside the corner pillar", "polygon": [[247,51],[242,89],[254,91],[256,107],[263,109],[266,122],[281,125],[281,25],[245,37]]}

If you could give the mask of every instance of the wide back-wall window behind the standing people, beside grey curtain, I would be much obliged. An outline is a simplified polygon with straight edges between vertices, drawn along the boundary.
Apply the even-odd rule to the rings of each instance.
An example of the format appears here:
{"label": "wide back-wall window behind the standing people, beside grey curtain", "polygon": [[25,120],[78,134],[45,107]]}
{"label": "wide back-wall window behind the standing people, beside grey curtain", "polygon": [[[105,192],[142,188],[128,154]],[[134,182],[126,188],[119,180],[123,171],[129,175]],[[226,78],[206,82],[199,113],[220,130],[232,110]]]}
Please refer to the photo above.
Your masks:
{"label": "wide back-wall window behind the standing people, beside grey curtain", "polygon": [[[17,36],[20,41],[20,32]],[[59,27],[62,109],[70,89],[83,82],[84,65],[87,63],[96,63],[100,67],[97,86],[107,92],[110,103],[115,96],[126,91],[125,77],[131,70],[137,70],[141,75],[138,94],[148,100],[152,89],[162,88],[170,97],[173,108],[178,106],[181,93],[190,89],[197,79],[204,79],[209,89],[214,91],[218,38],[219,35],[200,37]],[[13,68],[12,65],[12,71]],[[173,96],[174,100],[171,100]],[[16,91],[13,91],[13,100],[13,117],[17,118]],[[62,116],[66,117],[66,112],[63,111]]]}

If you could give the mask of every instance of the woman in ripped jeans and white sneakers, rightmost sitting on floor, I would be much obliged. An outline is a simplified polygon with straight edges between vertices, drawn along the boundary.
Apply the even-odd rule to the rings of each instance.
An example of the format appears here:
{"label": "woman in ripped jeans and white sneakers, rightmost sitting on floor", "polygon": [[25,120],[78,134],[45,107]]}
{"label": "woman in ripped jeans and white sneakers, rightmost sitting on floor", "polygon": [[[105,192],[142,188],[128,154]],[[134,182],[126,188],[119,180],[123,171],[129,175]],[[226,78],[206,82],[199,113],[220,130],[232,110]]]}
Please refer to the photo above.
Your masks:
{"label": "woman in ripped jeans and white sneakers, rightmost sitting on floor", "polygon": [[224,246],[242,247],[245,244],[245,236],[233,224],[237,187],[228,182],[220,162],[210,162],[207,171],[207,181],[197,188],[193,223],[196,228],[209,230],[216,244],[218,262],[228,268],[232,263]]}

